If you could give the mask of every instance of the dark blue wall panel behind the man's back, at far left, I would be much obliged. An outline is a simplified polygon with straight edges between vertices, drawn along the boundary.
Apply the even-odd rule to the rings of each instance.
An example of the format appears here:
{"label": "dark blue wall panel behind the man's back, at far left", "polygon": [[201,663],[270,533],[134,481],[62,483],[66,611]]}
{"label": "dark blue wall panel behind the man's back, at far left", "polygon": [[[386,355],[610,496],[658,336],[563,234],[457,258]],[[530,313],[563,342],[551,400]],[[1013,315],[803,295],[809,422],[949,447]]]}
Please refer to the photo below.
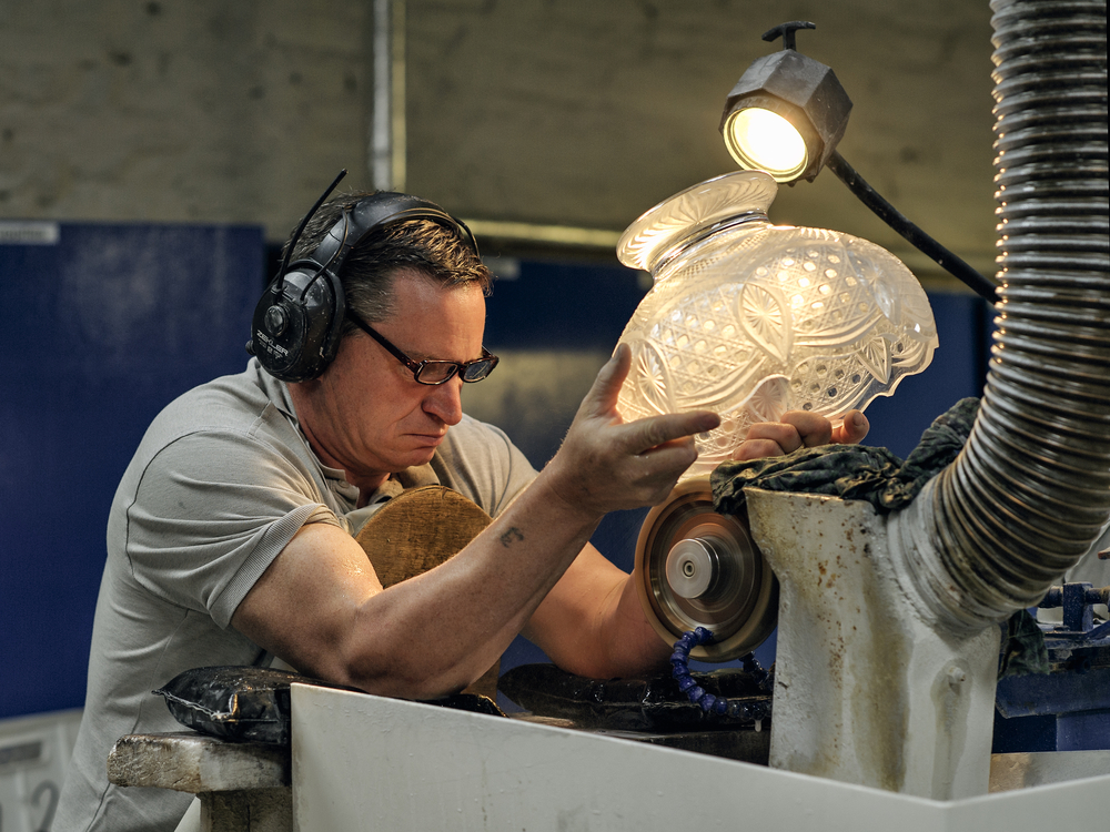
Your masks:
{"label": "dark blue wall panel behind the man's back, at far left", "polygon": [[0,244],[0,718],[79,707],[115,486],[173,397],[240,372],[261,229]]}

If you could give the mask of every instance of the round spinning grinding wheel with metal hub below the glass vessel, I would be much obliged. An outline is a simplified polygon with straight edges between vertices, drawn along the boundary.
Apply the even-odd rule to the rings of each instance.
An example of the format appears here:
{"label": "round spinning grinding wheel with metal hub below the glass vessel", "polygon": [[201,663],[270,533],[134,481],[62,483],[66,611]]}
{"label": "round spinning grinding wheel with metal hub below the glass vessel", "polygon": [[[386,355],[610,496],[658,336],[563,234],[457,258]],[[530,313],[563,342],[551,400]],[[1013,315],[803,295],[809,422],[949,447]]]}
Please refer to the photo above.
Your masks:
{"label": "round spinning grinding wheel with metal hub below the glass vessel", "polygon": [[705,627],[715,638],[690,657],[728,661],[761,645],[778,619],[778,580],[746,517],[713,509],[708,477],[679,483],[650,510],[636,542],[634,580],[647,620],[672,643]]}

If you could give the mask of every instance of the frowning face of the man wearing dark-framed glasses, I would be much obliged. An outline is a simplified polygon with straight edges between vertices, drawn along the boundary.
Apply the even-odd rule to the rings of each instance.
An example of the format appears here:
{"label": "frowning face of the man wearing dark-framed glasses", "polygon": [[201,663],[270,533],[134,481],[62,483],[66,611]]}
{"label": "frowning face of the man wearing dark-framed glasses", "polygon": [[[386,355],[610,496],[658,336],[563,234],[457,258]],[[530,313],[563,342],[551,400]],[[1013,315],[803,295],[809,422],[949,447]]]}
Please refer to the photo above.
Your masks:
{"label": "frowning face of the man wearing dark-framed glasses", "polygon": [[[374,328],[413,361],[467,362],[482,357],[485,297],[473,285],[441,288],[400,273],[394,311]],[[319,379],[307,432],[327,464],[361,487],[432,459],[451,425],[462,418],[463,382],[418,384],[412,371],[364,333],[343,339]]]}

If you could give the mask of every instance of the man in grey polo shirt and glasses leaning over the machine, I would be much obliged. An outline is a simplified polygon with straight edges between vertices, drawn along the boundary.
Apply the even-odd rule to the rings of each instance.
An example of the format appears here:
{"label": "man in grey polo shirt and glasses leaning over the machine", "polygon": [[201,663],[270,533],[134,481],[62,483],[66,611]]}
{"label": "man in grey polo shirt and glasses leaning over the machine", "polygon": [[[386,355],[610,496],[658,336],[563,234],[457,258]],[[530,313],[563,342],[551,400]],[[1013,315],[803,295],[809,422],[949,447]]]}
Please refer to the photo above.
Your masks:
{"label": "man in grey polo shirt and glasses leaning over the machine", "polygon": [[[56,830],[174,828],[188,794],[110,785],[104,760],[123,734],[178,730],[150,691],[191,668],[278,657],[312,677],[430,699],[476,680],[521,632],[586,676],[665,663],[670,648],[628,576],[588,541],[606,513],[666,498],[695,459],[692,435],[717,416],[624,424],[629,354],[618,348],[537,474],[462,412],[464,382],[496,364],[482,346],[488,272],[468,232],[427,203],[418,219],[390,207],[382,220],[394,196],[327,203],[296,246],[290,272],[310,266],[301,283],[289,278],[292,300],[260,304],[260,356],[172,403],[143,438],[109,520],[85,714]],[[337,333],[334,344],[321,335],[309,352],[322,366],[286,372],[302,332],[294,307],[332,278],[336,317],[322,307],[326,325],[314,312],[303,332]],[[741,455],[833,436],[820,417],[790,419],[758,426]],[[846,424],[836,438],[866,432]],[[447,562],[383,590],[353,534],[401,488],[430,481],[493,522]]]}

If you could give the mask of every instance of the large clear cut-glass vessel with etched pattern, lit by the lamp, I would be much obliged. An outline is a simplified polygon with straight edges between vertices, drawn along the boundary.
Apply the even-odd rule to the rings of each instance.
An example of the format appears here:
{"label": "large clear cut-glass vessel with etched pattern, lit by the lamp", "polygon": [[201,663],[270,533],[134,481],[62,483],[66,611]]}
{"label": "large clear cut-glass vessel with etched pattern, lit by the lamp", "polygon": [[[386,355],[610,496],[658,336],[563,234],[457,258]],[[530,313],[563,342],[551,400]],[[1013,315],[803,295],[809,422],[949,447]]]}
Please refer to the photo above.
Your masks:
{"label": "large clear cut-glass vessel with etched pattern, lit by the lamp", "polygon": [[[755,187],[754,176],[766,182]],[[928,298],[900,261],[848,234],[771,225],[758,213],[767,182],[775,187],[743,172],[688,189],[637,220],[618,248],[627,265],[655,266],[620,337],[633,352],[622,416],[722,416],[696,438],[685,476],[728,459],[757,422],[793,409],[836,420],[866,407],[925,369],[937,347]],[[736,194],[755,196],[729,204]],[[653,214],[664,226],[654,237]]]}

